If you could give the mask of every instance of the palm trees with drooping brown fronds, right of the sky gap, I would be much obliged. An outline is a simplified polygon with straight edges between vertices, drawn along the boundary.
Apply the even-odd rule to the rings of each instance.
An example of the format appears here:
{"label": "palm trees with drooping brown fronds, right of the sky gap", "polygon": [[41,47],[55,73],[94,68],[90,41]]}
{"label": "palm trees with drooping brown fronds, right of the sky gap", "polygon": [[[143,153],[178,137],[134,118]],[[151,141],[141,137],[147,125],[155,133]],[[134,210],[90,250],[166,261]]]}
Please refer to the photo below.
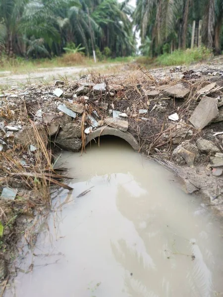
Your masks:
{"label": "palm trees with drooping brown fronds, right of the sky gap", "polygon": [[189,48],[193,21],[197,45],[200,20],[202,44],[215,53],[223,47],[223,0],[137,0],[134,20],[152,55]]}

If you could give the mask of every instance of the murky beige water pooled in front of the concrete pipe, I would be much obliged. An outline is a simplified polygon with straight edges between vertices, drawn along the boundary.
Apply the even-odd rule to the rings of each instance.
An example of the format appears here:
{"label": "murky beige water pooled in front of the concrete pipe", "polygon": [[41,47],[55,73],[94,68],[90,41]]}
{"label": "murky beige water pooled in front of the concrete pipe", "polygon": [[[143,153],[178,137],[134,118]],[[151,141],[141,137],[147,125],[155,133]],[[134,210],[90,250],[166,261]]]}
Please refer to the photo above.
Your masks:
{"label": "murky beige water pooled in front of the concrete pipe", "polygon": [[223,229],[210,207],[121,140],[86,151],[62,153],[74,190],[54,199],[5,296],[222,295]]}

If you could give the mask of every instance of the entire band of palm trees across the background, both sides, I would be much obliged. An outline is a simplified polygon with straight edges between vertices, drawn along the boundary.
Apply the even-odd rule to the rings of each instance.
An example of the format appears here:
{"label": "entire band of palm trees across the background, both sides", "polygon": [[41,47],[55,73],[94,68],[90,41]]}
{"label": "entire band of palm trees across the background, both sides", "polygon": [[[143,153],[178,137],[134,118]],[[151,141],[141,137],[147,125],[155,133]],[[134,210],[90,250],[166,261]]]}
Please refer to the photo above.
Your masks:
{"label": "entire band of palm trees across the background, both sides", "polygon": [[202,44],[223,49],[223,0],[0,0],[0,54],[52,57],[82,51],[99,58],[190,48],[192,23],[202,20]]}

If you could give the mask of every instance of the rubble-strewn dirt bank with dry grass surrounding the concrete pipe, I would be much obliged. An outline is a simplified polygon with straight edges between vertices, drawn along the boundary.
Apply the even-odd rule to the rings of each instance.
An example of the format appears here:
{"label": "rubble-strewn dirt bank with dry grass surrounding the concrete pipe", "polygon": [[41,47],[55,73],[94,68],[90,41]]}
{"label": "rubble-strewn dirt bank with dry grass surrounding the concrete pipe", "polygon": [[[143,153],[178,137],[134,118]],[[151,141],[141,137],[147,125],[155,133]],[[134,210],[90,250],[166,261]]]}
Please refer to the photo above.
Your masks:
{"label": "rubble-strewn dirt bank with dry grass surrounding the concrete pipe", "polygon": [[105,127],[131,134],[140,152],[182,178],[187,193],[202,195],[222,213],[223,74],[219,67],[92,74],[78,81],[2,92],[1,280],[7,277],[5,263],[11,261],[9,251],[18,234],[24,233],[29,245],[35,241],[27,222],[32,224],[50,207],[50,186],[67,187],[61,182],[64,175],[56,168],[54,152],[84,153],[97,129],[99,135]]}

